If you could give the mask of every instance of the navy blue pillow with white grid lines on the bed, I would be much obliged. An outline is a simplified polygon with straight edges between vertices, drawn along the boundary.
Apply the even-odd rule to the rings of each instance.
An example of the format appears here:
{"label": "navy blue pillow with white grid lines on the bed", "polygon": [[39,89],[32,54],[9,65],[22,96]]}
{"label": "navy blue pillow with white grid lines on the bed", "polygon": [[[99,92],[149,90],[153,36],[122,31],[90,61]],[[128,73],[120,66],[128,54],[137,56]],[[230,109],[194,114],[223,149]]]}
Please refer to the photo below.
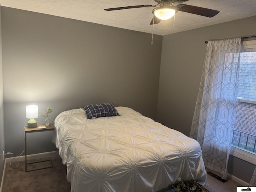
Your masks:
{"label": "navy blue pillow with white grid lines on the bed", "polygon": [[84,110],[88,119],[119,115],[112,103],[87,105]]}

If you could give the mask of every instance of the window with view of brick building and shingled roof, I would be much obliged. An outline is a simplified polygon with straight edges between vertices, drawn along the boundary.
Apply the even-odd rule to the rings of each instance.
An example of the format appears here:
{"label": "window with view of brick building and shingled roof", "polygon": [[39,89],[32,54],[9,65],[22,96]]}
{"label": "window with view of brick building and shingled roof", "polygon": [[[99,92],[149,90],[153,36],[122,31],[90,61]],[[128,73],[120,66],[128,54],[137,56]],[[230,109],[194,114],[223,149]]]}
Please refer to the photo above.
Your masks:
{"label": "window with view of brick building and shingled roof", "polygon": [[256,40],[244,41],[240,53],[232,146],[256,154]]}

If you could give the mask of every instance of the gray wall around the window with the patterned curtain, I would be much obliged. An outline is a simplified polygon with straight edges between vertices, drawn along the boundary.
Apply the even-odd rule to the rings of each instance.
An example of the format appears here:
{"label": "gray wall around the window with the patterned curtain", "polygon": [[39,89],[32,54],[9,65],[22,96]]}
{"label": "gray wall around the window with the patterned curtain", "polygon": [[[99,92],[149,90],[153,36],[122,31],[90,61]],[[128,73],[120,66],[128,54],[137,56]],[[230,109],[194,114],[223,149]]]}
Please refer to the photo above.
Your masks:
{"label": "gray wall around the window with the patterned curtain", "polygon": [[[164,36],[157,120],[189,136],[204,64],[204,42],[252,35],[256,35],[256,16]],[[232,165],[239,161],[230,159]],[[240,174],[234,176],[250,182],[248,173],[255,166],[246,162],[240,165]],[[229,173],[235,168],[230,166]]]}

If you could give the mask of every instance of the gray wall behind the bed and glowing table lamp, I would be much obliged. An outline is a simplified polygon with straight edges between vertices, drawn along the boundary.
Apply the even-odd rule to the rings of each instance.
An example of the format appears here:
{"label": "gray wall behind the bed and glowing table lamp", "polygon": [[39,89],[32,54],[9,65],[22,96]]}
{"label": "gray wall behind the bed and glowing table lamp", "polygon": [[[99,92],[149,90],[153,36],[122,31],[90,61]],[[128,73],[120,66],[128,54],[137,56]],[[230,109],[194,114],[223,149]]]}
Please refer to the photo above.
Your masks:
{"label": "gray wall behind the bed and glowing table lamp", "polygon": [[[156,118],[162,36],[2,7],[5,149],[24,150],[25,107],[64,110],[113,102]],[[38,124],[44,118],[38,117]],[[28,134],[28,154],[56,150]]]}

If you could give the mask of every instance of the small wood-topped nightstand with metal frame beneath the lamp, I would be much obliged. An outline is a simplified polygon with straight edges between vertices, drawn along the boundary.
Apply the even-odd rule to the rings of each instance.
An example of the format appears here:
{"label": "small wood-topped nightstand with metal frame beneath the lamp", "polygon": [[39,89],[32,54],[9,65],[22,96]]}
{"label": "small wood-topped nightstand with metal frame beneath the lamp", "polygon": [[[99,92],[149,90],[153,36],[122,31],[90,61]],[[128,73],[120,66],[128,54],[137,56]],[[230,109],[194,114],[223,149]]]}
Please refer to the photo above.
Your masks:
{"label": "small wood-topped nightstand with metal frame beneath the lamp", "polygon": [[[46,126],[44,129],[39,129],[39,126],[45,126],[45,125],[37,125],[35,128],[28,128],[28,126],[25,126],[24,132],[25,132],[25,172],[28,171],[35,171],[35,170],[40,170],[40,169],[46,169],[46,168],[51,168],[52,167],[52,160],[45,160],[45,161],[39,161],[39,162],[32,162],[32,163],[27,163],[27,134],[28,133],[35,133],[35,132],[45,132],[45,131],[54,131],[54,126],[53,124],[50,124]],[[27,170],[27,165],[28,164],[34,164],[34,163],[40,163],[40,162],[46,162],[50,161],[50,166],[44,167],[44,168],[39,168],[39,169],[33,169],[33,170]]]}

